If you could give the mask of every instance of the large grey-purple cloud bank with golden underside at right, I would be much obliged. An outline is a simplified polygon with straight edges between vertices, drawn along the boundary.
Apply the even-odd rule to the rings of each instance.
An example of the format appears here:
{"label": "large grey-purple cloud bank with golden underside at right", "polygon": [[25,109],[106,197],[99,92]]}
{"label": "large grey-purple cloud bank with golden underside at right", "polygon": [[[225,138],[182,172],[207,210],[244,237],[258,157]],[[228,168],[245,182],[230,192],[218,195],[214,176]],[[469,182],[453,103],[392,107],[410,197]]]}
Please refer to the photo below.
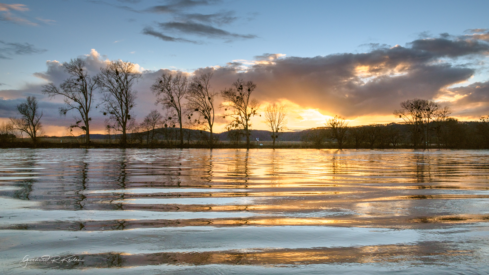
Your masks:
{"label": "large grey-purple cloud bank with golden underside at right", "polygon": [[[460,100],[450,95],[451,87],[472,77],[477,68],[459,65],[446,58],[483,57],[488,44],[475,37],[418,39],[407,46],[378,45],[366,53],[340,53],[316,57],[285,57],[263,54],[246,70],[236,62],[220,68],[199,69],[196,73],[213,71],[215,87],[229,86],[237,78],[258,84],[255,96],[273,102],[287,99],[304,108],[323,114],[339,114],[349,118],[361,115],[390,115],[399,103],[412,98],[437,99],[452,96],[446,104],[464,110],[470,102],[489,107],[486,86],[467,86],[471,92]],[[486,89],[486,90],[485,90]],[[459,89],[465,94],[467,91]],[[462,94],[462,95],[463,95]],[[461,101],[466,100],[466,101]],[[484,109],[484,110],[486,110]],[[458,111],[457,111],[458,112]],[[465,115],[477,117],[480,112],[467,108]],[[454,113],[454,115],[462,113]]]}

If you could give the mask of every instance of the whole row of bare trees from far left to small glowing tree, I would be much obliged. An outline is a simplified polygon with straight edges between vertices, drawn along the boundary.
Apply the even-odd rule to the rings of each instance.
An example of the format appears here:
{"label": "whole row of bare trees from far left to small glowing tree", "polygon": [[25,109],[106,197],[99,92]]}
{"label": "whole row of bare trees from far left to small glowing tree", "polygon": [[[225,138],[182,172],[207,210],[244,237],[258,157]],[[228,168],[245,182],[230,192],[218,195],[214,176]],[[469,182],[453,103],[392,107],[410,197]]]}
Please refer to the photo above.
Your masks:
{"label": "whole row of bare trees from far left to small glowing tree", "polygon": [[[42,92],[49,97],[63,96],[65,105],[59,109],[59,114],[66,116],[73,114],[74,123],[68,129],[81,129],[85,134],[85,142],[90,142],[90,122],[93,109],[99,110],[106,118],[106,130],[120,133],[119,142],[125,145],[128,142],[128,132],[137,130],[148,132],[146,142],[151,142],[160,127],[175,127],[179,125],[180,145],[183,145],[183,127],[197,128],[210,132],[209,142],[212,146],[213,127],[217,109],[224,109],[222,118],[230,118],[226,129],[244,130],[246,146],[249,148],[249,136],[252,126],[251,117],[261,116],[258,111],[260,103],[251,97],[256,89],[252,81],[238,79],[231,88],[215,92],[211,89],[212,73],[204,73],[188,78],[178,73],[163,73],[151,86],[156,96],[156,105],[161,105],[166,116],[157,110],[152,110],[141,123],[136,123],[133,108],[136,105],[137,91],[133,85],[142,78],[142,74],[135,69],[131,62],[111,61],[100,68],[96,75],[89,75],[85,69],[84,60],[77,58],[64,62],[63,68],[69,75],[60,85],[49,83],[43,86]],[[102,97],[98,104],[94,104],[95,91]],[[217,96],[221,95],[223,102],[216,106]],[[42,135],[42,111],[38,108],[35,97],[18,106],[21,118],[11,118],[12,129],[27,133],[33,142],[37,142]],[[287,115],[285,107],[270,105],[265,110],[267,125],[272,130],[272,138],[286,127]]]}

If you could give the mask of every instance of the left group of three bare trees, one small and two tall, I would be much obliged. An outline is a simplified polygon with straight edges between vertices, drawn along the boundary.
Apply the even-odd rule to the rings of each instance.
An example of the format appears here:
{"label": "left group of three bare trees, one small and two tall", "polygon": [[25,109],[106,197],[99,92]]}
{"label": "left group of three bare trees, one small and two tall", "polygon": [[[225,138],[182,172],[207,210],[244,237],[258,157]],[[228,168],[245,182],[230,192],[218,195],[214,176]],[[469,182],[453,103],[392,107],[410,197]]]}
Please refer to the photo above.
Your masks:
{"label": "left group of three bare trees, one small and two tall", "polygon": [[[109,115],[107,122],[113,122],[109,127],[120,131],[121,143],[126,144],[127,129],[133,115],[132,109],[137,93],[133,90],[133,85],[142,78],[141,73],[135,70],[133,63],[124,61],[108,62],[95,76],[90,76],[84,69],[85,66],[85,61],[80,58],[63,63],[69,77],[59,86],[54,83],[44,85],[42,92],[51,98],[56,95],[63,96],[65,105],[59,108],[59,114],[66,116],[70,111],[75,113],[75,122],[68,128],[70,132],[73,128],[81,129],[85,133],[87,143],[90,142],[90,111],[101,105],[101,113]],[[102,93],[102,99],[94,106],[96,89]],[[37,98],[28,96],[24,102],[17,105],[17,110],[21,117],[11,117],[10,128],[26,133],[33,143],[37,143],[39,137],[44,134],[41,123],[43,112],[39,109]]]}

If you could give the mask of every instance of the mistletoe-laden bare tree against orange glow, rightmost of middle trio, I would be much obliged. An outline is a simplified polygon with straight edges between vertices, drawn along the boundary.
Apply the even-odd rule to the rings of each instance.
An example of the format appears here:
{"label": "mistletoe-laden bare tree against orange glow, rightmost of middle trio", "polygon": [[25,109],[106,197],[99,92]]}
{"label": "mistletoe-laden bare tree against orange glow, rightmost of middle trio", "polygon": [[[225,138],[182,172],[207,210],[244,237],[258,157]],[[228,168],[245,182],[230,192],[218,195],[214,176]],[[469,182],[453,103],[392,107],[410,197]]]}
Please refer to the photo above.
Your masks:
{"label": "mistletoe-laden bare tree against orange glow, rightmost of middle trio", "polygon": [[249,136],[251,135],[250,119],[251,116],[259,115],[256,111],[260,108],[258,100],[250,98],[251,92],[256,88],[256,84],[252,81],[244,82],[244,80],[238,79],[232,86],[221,91],[224,102],[221,103],[220,108],[224,108],[224,111],[230,112],[225,113],[222,117],[231,117],[231,121],[226,125],[228,131],[232,128],[244,130],[244,135],[246,135],[246,148],[249,149]]}

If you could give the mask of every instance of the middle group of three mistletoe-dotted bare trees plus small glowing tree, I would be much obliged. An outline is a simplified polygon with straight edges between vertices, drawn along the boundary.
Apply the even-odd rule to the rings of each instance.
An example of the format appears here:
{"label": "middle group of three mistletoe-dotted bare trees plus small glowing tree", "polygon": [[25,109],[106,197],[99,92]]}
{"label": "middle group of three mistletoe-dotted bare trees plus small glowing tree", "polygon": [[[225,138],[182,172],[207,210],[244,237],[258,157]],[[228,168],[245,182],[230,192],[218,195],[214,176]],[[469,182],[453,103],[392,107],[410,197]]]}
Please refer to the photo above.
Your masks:
{"label": "middle group of three mistletoe-dotted bare trees plus small glowing tree", "polygon": [[[179,124],[180,145],[182,146],[184,121],[187,121],[188,128],[192,128],[197,123],[197,128],[209,131],[209,143],[212,147],[214,142],[213,126],[216,115],[218,115],[217,108],[223,109],[222,118],[229,119],[225,129],[228,131],[243,130],[246,136],[246,148],[249,148],[251,117],[261,116],[258,113],[260,103],[251,97],[251,93],[256,89],[256,84],[252,81],[238,79],[230,88],[225,88],[218,93],[214,90],[211,91],[211,78],[212,73],[204,73],[190,79],[181,74],[174,75],[171,73],[163,73],[158,77],[151,87],[151,91],[156,95],[156,104],[160,103],[163,109],[168,111],[168,114],[173,114],[168,118],[161,119],[161,124],[167,125],[167,122],[172,123],[173,126],[175,123]],[[216,106],[215,102],[218,95],[221,95],[222,103]],[[145,118],[145,121],[150,117],[155,117],[154,112],[156,111],[152,111]],[[265,109],[265,120],[272,130],[274,141],[277,133],[286,127],[286,115],[284,106],[273,104]],[[143,121],[143,123],[145,122]],[[154,131],[154,127],[152,131]],[[275,142],[273,144],[275,145]]]}

